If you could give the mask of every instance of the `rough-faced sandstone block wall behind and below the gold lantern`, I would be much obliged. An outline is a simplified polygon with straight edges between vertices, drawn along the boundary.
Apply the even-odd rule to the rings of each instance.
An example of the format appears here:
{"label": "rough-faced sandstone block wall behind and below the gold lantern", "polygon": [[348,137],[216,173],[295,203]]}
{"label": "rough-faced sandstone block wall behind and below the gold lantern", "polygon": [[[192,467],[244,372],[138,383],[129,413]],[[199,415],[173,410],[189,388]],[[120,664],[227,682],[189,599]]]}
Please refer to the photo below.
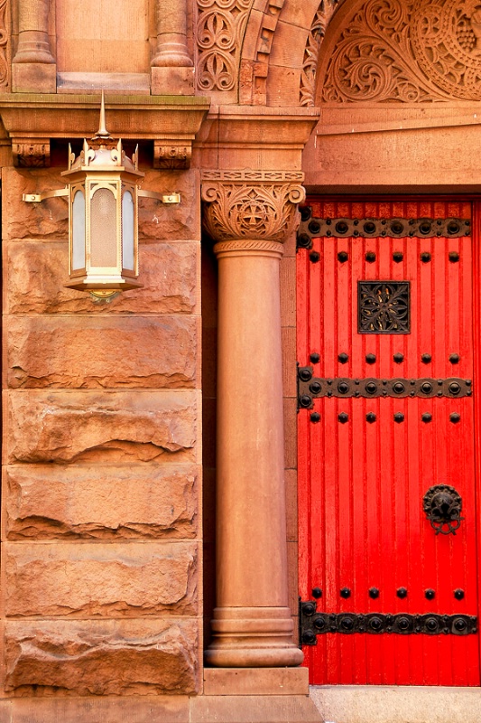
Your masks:
{"label": "rough-faced sandstone block wall behind and below the gold lantern", "polygon": [[140,280],[63,287],[68,211],[4,168],[2,690],[196,693],[201,681],[199,179],[147,171]]}

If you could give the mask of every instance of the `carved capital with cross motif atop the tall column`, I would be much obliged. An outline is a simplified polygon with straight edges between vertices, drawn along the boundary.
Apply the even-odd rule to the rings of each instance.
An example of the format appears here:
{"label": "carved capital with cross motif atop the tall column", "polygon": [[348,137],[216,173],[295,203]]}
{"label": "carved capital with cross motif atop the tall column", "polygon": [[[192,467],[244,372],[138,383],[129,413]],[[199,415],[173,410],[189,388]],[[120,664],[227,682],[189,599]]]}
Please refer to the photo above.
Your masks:
{"label": "carved capital with cross motif atop the tall column", "polygon": [[212,239],[282,242],[293,230],[305,191],[301,183],[286,178],[291,174],[260,172],[257,178],[255,172],[230,171],[225,178],[218,177],[220,172],[212,174],[217,179],[204,174],[202,183],[203,223]]}

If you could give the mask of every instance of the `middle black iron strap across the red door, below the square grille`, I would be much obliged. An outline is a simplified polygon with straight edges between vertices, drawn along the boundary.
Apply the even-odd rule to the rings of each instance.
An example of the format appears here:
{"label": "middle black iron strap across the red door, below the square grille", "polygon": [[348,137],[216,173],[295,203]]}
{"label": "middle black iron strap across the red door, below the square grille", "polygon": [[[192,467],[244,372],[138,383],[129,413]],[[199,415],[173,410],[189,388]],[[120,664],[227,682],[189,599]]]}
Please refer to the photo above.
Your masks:
{"label": "middle black iron strap across the red door, below the square grille", "polygon": [[348,379],[338,377],[335,379],[320,379],[312,376],[312,367],[300,367],[298,371],[298,400],[299,407],[309,409],[313,399],[321,397],[471,397],[473,384],[470,379]]}

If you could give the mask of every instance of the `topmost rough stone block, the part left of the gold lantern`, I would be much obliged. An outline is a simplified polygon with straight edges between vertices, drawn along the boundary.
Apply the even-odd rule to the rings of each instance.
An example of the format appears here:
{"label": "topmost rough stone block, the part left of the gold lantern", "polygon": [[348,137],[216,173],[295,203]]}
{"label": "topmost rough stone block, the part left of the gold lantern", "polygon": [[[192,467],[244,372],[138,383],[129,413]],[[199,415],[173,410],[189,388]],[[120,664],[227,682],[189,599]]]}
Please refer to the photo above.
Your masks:
{"label": "topmost rough stone block, the part left of the gold lantern", "polygon": [[2,174],[4,240],[68,239],[69,205],[64,198],[50,198],[40,203],[22,201],[23,193],[41,193],[65,187],[60,170],[5,168]]}

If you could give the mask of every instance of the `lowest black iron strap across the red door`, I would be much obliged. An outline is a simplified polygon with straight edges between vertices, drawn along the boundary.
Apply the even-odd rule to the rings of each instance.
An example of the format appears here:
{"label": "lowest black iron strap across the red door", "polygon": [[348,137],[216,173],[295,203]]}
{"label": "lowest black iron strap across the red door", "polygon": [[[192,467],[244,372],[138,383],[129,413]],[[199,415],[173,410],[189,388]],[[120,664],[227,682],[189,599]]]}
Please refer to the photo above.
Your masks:
{"label": "lowest black iron strap across the red door", "polygon": [[315,645],[327,633],[373,635],[470,635],[477,633],[476,615],[397,615],[384,613],[313,613],[313,603],[301,603],[301,643]]}

